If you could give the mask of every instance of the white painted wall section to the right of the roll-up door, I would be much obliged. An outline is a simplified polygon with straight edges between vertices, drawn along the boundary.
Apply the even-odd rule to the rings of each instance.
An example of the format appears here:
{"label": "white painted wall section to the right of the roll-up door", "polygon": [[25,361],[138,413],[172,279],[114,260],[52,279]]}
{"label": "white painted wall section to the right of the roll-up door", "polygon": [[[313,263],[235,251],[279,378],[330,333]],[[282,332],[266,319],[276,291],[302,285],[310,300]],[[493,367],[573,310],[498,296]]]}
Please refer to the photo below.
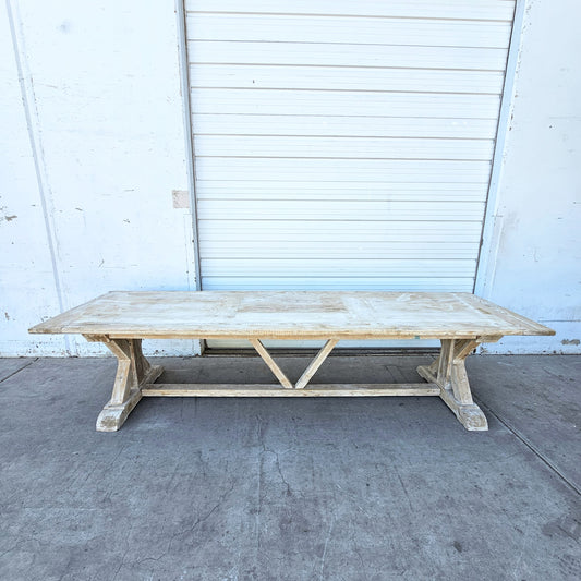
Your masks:
{"label": "white painted wall section to the right of the roll-up door", "polygon": [[580,353],[581,36],[577,0],[528,0],[481,294],[557,331],[488,352]]}

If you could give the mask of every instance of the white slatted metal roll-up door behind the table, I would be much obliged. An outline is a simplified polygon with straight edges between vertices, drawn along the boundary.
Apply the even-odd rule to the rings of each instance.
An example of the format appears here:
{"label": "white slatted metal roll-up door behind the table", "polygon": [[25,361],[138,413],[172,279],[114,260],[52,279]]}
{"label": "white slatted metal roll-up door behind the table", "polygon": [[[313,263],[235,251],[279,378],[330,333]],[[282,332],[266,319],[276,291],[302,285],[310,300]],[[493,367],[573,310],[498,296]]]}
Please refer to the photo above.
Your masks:
{"label": "white slatted metal roll-up door behind the table", "polygon": [[202,288],[472,291],[512,0],[186,0]]}

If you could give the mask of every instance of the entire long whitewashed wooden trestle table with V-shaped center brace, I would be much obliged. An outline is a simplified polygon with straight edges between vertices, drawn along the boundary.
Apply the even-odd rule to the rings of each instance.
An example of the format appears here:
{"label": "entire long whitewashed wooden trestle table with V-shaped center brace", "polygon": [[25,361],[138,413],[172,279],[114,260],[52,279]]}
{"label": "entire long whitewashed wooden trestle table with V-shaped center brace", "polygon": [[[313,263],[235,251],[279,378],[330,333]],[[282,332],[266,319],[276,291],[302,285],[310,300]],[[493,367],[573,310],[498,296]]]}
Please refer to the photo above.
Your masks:
{"label": "entire long whitewashed wooden trestle table with V-shaped center brace", "polygon": [[[78,332],[101,341],[118,359],[110,401],[97,429],[114,432],[143,396],[352,397],[439,396],[470,431],[488,428],[474,403],[465,358],[504,335],[555,331],[469,293],[325,291],[110,292],[72,308],[31,332]],[[280,383],[154,384],[162,370],[143,356],[145,338],[245,338]],[[261,339],[325,339],[295,385]],[[340,339],[437,338],[439,358],[417,367],[428,384],[328,384],[307,386]]]}

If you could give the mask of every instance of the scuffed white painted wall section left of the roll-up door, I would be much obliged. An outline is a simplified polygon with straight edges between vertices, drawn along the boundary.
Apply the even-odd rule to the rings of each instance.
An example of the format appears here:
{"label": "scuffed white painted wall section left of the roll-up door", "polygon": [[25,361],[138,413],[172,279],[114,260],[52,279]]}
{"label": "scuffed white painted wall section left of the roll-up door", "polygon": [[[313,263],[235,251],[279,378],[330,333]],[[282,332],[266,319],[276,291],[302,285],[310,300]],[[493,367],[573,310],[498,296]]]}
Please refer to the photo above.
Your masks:
{"label": "scuffed white painted wall section left of the roll-up door", "polygon": [[12,19],[0,8],[0,353],[101,352],[26,329],[112,289],[194,288],[191,218],[171,196],[187,184],[173,0],[10,5]]}

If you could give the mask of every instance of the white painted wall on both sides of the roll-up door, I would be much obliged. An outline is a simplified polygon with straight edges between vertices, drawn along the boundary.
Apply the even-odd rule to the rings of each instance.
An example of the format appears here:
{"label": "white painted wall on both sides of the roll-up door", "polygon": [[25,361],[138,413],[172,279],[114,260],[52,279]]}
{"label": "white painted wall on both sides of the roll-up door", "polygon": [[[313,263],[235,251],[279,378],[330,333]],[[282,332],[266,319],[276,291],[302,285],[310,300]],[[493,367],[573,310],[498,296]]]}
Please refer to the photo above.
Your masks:
{"label": "white painted wall on both sides of the roll-up door", "polygon": [[[187,183],[173,0],[9,4],[12,17],[0,3],[0,355],[101,353],[26,329],[108,290],[195,286],[191,217],[171,197]],[[488,350],[581,352],[580,16],[576,0],[526,2],[479,274],[480,294],[558,334]]]}

